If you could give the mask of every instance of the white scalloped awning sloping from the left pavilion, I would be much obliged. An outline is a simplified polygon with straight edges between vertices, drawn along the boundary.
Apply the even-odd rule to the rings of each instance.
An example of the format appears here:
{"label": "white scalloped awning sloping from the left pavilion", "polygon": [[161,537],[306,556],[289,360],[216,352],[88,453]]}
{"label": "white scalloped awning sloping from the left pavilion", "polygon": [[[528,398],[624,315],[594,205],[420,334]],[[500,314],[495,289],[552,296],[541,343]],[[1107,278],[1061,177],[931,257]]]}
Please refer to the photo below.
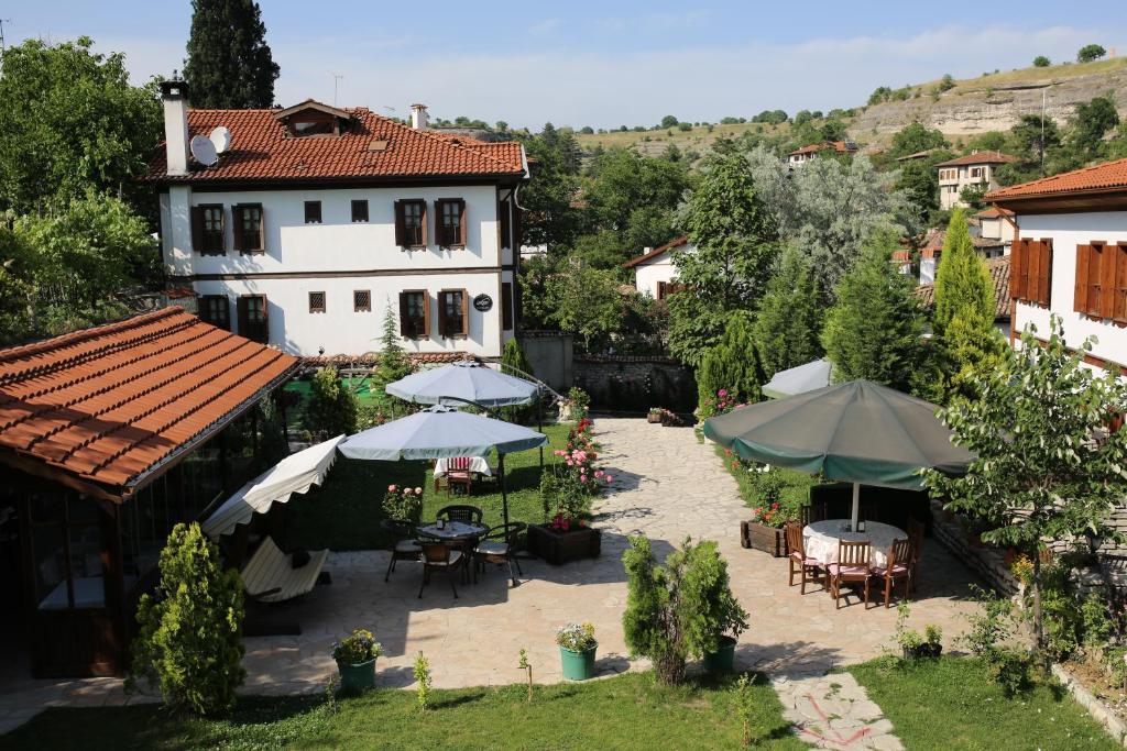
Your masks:
{"label": "white scalloped awning sloping from the left pavilion", "polygon": [[308,493],[313,485],[320,485],[337,457],[337,444],[344,439],[337,436],[291,454],[248,482],[207,517],[204,533],[218,538],[250,521],[256,512],[266,513],[274,501],[285,503],[293,493]]}

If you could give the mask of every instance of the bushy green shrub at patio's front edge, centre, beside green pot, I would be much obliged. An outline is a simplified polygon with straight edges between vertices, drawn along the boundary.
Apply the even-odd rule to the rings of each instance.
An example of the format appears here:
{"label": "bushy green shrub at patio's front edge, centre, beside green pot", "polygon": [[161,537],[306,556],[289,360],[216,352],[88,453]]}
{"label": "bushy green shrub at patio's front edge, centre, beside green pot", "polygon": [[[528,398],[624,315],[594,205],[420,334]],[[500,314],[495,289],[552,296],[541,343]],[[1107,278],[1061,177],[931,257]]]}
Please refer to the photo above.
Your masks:
{"label": "bushy green shrub at patio's front edge, centre, beside green pot", "polygon": [[631,537],[622,563],[627,646],[650,659],[660,682],[680,683],[689,658],[701,658],[717,649],[720,636],[738,636],[747,628],[747,613],[731,593],[728,566],[715,542],[694,545],[686,538],[659,565],[649,540]]}

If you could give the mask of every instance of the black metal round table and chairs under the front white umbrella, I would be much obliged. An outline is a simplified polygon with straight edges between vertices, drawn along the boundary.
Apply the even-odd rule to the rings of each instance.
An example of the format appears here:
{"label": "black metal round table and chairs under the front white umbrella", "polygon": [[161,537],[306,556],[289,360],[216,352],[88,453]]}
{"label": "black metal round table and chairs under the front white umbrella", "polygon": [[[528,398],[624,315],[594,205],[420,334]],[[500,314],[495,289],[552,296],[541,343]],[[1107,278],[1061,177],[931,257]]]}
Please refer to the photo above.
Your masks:
{"label": "black metal round table and chairs under the front white umbrella", "polygon": [[450,590],[456,598],[455,575],[461,576],[462,583],[468,583],[472,572],[473,583],[477,583],[478,573],[483,574],[486,564],[494,563],[508,566],[508,576],[515,587],[517,582],[513,566],[516,566],[516,573],[523,575],[524,572],[521,571],[521,562],[516,560],[514,552],[517,538],[527,525],[523,521],[509,521],[486,527],[481,524],[481,518],[480,508],[454,504],[440,509],[435,520],[427,525],[383,520],[383,530],[394,539],[383,580],[390,580],[400,561],[421,563],[423,581],[419,583],[418,596],[423,597],[423,590],[431,583],[432,574],[441,571],[450,580]]}

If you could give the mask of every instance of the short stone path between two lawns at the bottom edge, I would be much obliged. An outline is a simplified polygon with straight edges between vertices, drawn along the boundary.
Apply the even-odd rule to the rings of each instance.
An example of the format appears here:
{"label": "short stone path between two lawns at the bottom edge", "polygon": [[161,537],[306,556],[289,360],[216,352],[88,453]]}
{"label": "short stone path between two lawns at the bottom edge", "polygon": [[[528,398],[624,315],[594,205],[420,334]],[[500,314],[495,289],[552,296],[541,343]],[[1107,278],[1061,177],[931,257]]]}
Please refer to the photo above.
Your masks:
{"label": "short stone path between two lawns at the bottom edge", "polygon": [[819,749],[903,751],[893,723],[850,673],[775,676],[771,685],[796,734]]}

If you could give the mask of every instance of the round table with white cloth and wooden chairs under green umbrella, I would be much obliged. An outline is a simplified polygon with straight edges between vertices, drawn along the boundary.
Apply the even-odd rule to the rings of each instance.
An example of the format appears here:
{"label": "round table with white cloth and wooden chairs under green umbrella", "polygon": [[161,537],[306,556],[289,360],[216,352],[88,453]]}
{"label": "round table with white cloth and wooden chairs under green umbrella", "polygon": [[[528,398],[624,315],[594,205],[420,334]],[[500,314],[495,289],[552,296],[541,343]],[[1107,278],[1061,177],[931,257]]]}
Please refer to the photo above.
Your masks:
{"label": "round table with white cloth and wooden chairs under green umbrella", "polygon": [[825,504],[802,508],[802,521],[786,526],[789,584],[798,575],[800,591],[807,583],[820,583],[841,608],[842,587],[863,589],[864,606],[873,583],[882,585],[889,607],[897,585],[904,597],[914,589],[923,551],[924,526],[908,520],[907,531],[871,518],[855,525],[850,519],[826,519]]}

